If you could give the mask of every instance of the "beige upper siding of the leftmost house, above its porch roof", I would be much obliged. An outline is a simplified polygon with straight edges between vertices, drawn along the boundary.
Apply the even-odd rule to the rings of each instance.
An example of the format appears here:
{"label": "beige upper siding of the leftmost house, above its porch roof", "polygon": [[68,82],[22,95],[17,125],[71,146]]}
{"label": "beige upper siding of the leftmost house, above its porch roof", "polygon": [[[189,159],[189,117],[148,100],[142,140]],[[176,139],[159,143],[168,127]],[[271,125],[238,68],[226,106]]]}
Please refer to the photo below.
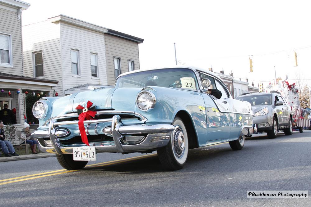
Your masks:
{"label": "beige upper siding of the leftmost house, above its porch roof", "polygon": [[[23,75],[21,21],[17,17],[17,9],[0,3],[0,33],[12,35],[13,68],[0,67],[0,72]],[[8,72],[9,71],[9,72]]]}

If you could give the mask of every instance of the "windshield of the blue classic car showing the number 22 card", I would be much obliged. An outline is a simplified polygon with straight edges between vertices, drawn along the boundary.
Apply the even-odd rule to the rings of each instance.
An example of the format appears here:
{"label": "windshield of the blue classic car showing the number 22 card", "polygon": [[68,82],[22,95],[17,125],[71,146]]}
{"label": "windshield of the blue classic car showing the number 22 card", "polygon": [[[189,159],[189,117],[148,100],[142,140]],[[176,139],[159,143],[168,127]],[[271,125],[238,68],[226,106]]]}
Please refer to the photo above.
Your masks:
{"label": "windshield of the blue classic car showing the number 22 card", "polygon": [[115,85],[116,88],[143,88],[146,86],[187,89],[199,88],[194,72],[184,68],[142,70],[120,76]]}

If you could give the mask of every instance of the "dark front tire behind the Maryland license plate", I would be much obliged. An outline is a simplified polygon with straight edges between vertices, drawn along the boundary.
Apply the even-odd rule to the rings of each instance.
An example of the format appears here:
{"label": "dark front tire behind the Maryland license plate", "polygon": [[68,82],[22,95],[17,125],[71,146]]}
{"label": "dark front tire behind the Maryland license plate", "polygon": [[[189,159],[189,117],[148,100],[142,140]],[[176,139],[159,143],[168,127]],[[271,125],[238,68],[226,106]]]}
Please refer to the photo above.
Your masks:
{"label": "dark front tire behind the Maryland license plate", "polygon": [[88,161],[73,160],[73,154],[56,154],[56,158],[60,165],[67,170],[78,170],[86,166]]}

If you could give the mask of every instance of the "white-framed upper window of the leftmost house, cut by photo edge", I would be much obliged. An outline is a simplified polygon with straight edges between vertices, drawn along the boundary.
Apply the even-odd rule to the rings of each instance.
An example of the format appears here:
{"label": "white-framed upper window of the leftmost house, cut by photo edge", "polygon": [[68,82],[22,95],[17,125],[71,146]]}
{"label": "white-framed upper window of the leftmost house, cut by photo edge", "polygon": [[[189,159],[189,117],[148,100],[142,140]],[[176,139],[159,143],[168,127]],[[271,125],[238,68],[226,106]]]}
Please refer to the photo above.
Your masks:
{"label": "white-framed upper window of the leftmost house, cut by photo edge", "polygon": [[12,38],[9,34],[0,33],[0,66],[12,67]]}

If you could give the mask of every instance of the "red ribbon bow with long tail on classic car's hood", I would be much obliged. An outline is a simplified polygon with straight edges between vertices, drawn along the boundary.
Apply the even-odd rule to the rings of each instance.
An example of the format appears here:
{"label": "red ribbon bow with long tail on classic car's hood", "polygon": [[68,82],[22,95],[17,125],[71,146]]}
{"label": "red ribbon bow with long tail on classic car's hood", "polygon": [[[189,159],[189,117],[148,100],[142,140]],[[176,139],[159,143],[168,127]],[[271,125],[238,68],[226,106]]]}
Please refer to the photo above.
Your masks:
{"label": "red ribbon bow with long tail on classic car's hood", "polygon": [[84,128],[84,120],[91,120],[94,119],[96,111],[95,106],[91,107],[93,103],[91,101],[87,101],[86,108],[81,105],[78,105],[76,109],[78,110],[79,115],[79,130],[81,134],[82,142],[85,143],[87,146],[89,145],[89,141],[87,140],[85,128]]}

